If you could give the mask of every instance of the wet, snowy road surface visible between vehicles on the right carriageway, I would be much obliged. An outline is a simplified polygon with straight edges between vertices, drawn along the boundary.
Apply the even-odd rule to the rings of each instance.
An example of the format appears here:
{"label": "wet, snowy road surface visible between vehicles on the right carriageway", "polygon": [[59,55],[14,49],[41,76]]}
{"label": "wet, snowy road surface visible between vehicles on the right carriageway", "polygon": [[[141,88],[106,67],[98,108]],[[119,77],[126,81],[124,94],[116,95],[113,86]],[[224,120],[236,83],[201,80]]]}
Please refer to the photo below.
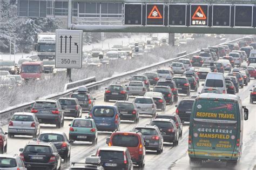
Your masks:
{"label": "wet, snowy road surface visible between vehicles on the right carriageway", "polygon": [[[203,81],[202,81],[203,82]],[[201,84],[201,83],[200,83]],[[250,104],[250,89],[253,85],[256,85],[256,80],[251,79],[248,86],[244,86],[243,89],[239,90],[238,96],[242,99],[242,104],[249,109],[249,119],[245,121],[244,124],[244,147],[242,148],[242,158],[238,165],[232,169],[256,169],[256,104]],[[199,91],[201,90],[201,86]],[[101,94],[100,94],[101,93]],[[96,95],[97,105],[113,105],[113,102],[104,102],[104,93],[100,92]],[[191,92],[195,94],[196,92]],[[179,100],[187,98],[186,96],[179,96]],[[130,98],[129,100],[133,100]],[[174,113],[176,107],[174,105],[167,105],[166,111],[164,113]],[[160,111],[158,113],[161,113]],[[83,113],[83,116],[87,113]],[[151,117],[146,115],[140,116],[139,125],[146,125],[150,123]],[[69,124],[72,119],[66,118],[64,127],[57,129],[55,126],[42,125],[41,132],[45,131],[62,131],[69,134]],[[154,151],[146,152],[146,164],[143,169],[228,169],[226,164],[223,162],[206,162],[200,167],[190,166],[189,158],[187,155],[187,145],[188,145],[188,123],[184,123],[183,126],[183,137],[179,139],[179,145],[173,147],[172,144],[165,143],[164,151],[158,155]],[[121,122],[121,131],[130,131],[136,124],[131,121]],[[3,127],[4,131],[7,131],[7,127]],[[99,132],[98,144],[92,146],[89,142],[75,142],[71,149],[71,162],[84,162],[85,157],[93,155],[99,146],[104,146],[106,138],[111,135],[111,132]],[[9,155],[19,154],[19,148],[23,148],[25,144],[31,141],[31,137],[17,136],[15,138],[8,139],[8,152]],[[69,163],[62,164],[62,169],[69,168]],[[134,166],[138,169],[137,166]]]}

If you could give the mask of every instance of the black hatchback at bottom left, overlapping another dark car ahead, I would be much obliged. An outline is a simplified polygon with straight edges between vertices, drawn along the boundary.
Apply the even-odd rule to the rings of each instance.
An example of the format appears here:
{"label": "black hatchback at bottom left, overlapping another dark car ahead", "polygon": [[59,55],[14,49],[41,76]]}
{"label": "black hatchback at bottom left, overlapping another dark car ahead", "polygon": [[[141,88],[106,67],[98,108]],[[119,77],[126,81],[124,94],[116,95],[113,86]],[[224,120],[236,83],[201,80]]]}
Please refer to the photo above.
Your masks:
{"label": "black hatchback at bottom left, overlapping another dark car ahead", "polygon": [[58,169],[60,170],[61,157],[52,142],[32,141],[19,149],[20,156],[28,169]]}

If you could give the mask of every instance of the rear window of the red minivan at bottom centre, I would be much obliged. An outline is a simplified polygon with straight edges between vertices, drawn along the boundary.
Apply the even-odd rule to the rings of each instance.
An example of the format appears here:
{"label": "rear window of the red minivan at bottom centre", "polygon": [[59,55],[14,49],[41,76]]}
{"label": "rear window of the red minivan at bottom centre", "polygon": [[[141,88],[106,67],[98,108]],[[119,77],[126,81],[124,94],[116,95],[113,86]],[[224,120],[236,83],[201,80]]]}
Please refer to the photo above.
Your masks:
{"label": "rear window of the red minivan at bottom centre", "polygon": [[139,138],[134,134],[115,134],[112,144],[113,146],[136,147],[139,145]]}

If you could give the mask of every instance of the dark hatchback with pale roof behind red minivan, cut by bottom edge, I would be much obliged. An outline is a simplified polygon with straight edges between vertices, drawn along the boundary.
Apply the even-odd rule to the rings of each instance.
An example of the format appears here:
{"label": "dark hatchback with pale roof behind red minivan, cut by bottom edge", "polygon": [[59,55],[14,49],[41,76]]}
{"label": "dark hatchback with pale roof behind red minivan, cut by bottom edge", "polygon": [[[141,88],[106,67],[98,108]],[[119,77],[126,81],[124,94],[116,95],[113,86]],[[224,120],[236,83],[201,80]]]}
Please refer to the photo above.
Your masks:
{"label": "dark hatchback with pale roof behind red minivan, cut by bottom edge", "polygon": [[133,169],[129,149],[119,146],[102,146],[97,149],[96,156],[105,170]]}

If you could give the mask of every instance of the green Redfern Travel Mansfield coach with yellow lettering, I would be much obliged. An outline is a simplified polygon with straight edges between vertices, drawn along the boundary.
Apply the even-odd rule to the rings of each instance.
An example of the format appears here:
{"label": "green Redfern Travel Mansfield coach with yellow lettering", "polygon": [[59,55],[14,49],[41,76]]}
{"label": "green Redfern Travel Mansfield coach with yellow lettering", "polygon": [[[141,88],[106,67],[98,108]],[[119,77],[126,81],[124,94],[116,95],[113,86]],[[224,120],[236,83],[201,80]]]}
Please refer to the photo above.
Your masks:
{"label": "green Redfern Travel Mansfield coach with yellow lettering", "polygon": [[194,101],[188,135],[190,163],[220,160],[237,164],[242,155],[248,109],[234,94],[204,93]]}

